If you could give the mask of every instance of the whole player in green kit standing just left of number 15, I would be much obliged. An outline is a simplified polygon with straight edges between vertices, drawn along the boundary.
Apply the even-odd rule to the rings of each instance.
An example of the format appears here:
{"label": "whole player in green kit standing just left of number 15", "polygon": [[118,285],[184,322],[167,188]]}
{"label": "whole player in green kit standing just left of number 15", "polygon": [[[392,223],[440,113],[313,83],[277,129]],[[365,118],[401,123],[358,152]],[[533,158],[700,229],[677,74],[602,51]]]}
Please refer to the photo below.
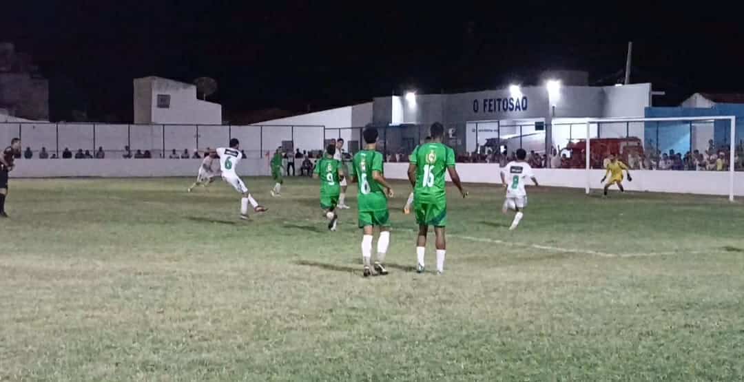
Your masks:
{"label": "whole player in green kit standing just left of number 15", "polygon": [[377,148],[377,129],[368,127],[362,135],[365,138],[365,149],[354,155],[352,163],[352,181],[359,183],[357,207],[359,209],[359,228],[364,230],[362,236],[362,260],[364,276],[371,276],[372,240],[374,227],[379,227],[377,239],[377,260],[374,271],[377,274],[388,274],[385,269],[385,254],[390,245],[390,213],[388,197],[392,198],[393,189],[385,180],[382,168],[382,154]]}

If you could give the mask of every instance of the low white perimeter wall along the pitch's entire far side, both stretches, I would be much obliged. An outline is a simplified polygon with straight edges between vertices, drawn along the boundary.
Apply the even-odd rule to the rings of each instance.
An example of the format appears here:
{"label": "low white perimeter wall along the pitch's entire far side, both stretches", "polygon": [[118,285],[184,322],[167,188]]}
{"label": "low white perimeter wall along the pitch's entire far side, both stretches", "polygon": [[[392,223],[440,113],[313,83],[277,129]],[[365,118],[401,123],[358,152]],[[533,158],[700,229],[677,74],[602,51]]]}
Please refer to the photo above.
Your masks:
{"label": "low white perimeter wall along the pitch's entire far side, both stretches", "polygon": [[[199,169],[198,159],[66,159],[19,160],[11,178],[56,177],[169,177],[193,176]],[[499,166],[494,164],[458,164],[464,182],[501,184]],[[408,164],[385,164],[385,176],[407,179]],[[583,169],[535,169],[539,183],[548,187],[586,186]],[[269,158],[244,159],[237,172],[243,176],[269,175]],[[603,170],[590,170],[591,187],[600,189]],[[626,190],[680,192],[705,195],[728,195],[728,172],[634,171],[633,181],[624,183]],[[744,172],[737,172],[734,194],[744,196]],[[448,177],[449,181],[449,177]],[[248,186],[250,187],[250,186]],[[501,192],[501,190],[494,190]]]}

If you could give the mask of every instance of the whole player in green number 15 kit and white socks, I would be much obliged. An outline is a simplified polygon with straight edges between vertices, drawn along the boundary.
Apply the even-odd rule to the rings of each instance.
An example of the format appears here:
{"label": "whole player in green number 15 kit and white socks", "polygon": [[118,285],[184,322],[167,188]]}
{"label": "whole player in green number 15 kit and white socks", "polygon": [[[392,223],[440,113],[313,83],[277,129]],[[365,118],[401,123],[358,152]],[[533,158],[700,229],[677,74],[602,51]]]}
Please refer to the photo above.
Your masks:
{"label": "whole player in green number 15 kit and white socks", "polygon": [[446,255],[446,239],[444,236],[447,225],[447,192],[445,172],[449,172],[452,183],[458,187],[463,198],[467,192],[460,183],[460,175],[455,170],[455,152],[442,143],[444,126],[433,123],[431,128],[432,141],[417,146],[409,158],[408,180],[414,187],[414,211],[416,223],[419,224],[416,245],[418,273],[424,271],[424,253],[426,252],[426,234],[429,226],[434,226],[437,235],[437,273],[444,272],[444,257]]}

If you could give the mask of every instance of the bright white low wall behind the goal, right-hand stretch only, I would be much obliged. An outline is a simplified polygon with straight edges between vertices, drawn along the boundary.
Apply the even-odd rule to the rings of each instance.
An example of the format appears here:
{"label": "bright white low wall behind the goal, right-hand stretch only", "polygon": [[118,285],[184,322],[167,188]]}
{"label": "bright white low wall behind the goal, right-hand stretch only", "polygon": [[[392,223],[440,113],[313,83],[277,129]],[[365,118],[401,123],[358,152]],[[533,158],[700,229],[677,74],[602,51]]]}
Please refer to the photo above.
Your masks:
{"label": "bright white low wall behind the goal, right-hand stretch only", "polygon": [[[501,184],[499,166],[495,164],[458,164],[464,182]],[[385,177],[408,179],[408,164],[385,164]],[[584,169],[534,169],[537,181],[548,187],[586,187]],[[590,171],[591,188],[601,189],[605,170]],[[702,195],[728,195],[728,172],[705,171],[633,171],[633,181],[623,183],[629,191],[674,192]],[[449,175],[447,181],[449,181]],[[501,192],[495,190],[494,192]],[[734,195],[744,196],[744,172],[734,174]]]}

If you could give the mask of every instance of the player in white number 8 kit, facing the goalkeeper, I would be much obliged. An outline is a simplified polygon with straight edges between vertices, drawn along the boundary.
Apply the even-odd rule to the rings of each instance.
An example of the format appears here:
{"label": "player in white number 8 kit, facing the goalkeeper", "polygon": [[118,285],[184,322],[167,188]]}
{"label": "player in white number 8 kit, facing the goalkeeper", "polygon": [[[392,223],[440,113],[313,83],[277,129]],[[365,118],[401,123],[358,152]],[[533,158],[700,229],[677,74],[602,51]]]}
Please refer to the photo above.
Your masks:
{"label": "player in white number 8 kit, facing the goalkeeper", "polygon": [[507,198],[504,200],[504,207],[501,207],[501,212],[507,213],[507,210],[516,211],[509,230],[514,230],[519,225],[519,221],[522,220],[522,216],[524,216],[522,210],[527,207],[527,190],[525,190],[527,178],[532,179],[535,186],[539,185],[532,172],[532,167],[525,162],[525,158],[527,158],[525,149],[518,149],[516,150],[517,160],[509,162],[509,164],[501,169],[501,183],[504,184],[504,188],[507,190]]}

